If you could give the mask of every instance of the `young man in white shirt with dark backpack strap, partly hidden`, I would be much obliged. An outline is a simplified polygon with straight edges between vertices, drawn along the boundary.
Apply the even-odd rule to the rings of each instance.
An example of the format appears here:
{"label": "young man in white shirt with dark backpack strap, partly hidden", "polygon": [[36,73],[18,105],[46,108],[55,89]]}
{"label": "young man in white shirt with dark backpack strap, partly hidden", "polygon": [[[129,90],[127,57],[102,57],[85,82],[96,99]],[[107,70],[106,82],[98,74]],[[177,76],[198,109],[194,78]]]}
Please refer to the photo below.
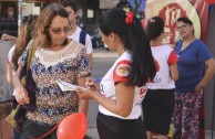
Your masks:
{"label": "young man in white shirt with dark backpack strap, partly hidden", "polygon": [[71,31],[68,33],[68,38],[85,45],[86,53],[89,55],[89,65],[92,68],[92,41],[91,36],[85,33],[80,26],[76,25],[78,6],[73,0],[63,0],[61,4],[69,13],[69,21],[71,24]]}

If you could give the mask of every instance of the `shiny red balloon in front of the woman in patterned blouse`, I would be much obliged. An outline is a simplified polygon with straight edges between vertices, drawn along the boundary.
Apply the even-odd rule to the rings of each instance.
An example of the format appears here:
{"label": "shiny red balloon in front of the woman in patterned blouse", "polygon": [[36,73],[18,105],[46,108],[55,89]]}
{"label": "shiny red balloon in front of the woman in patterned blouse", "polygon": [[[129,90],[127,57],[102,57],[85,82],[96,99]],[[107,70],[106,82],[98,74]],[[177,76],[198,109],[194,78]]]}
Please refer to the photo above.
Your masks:
{"label": "shiny red balloon in front of the woman in patterned blouse", "polygon": [[85,131],[85,116],[82,113],[74,113],[62,119],[58,127],[57,136],[58,139],[83,139]]}

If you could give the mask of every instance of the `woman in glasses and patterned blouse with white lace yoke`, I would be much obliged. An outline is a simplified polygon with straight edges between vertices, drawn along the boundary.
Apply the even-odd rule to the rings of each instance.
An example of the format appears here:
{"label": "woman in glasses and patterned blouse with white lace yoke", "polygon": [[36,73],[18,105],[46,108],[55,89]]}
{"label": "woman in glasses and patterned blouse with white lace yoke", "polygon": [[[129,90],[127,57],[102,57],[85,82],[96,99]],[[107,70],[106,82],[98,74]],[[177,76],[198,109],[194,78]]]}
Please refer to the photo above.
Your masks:
{"label": "woman in glasses and patterned blouse with white lace yoke", "polygon": [[[33,41],[24,51],[21,65],[13,78],[16,99],[19,104],[29,104],[27,89],[20,84],[18,76],[21,66],[28,58],[31,43],[37,50],[30,70],[35,83],[35,106],[33,111],[27,111],[27,120],[22,128],[22,139],[39,138],[53,128],[63,117],[72,113],[86,115],[88,100],[79,98],[74,92],[62,92],[57,79],[79,86],[85,86],[90,67],[85,47],[66,38],[70,31],[69,14],[65,9],[52,3],[43,9],[35,23]],[[47,137],[57,139],[57,130]]]}

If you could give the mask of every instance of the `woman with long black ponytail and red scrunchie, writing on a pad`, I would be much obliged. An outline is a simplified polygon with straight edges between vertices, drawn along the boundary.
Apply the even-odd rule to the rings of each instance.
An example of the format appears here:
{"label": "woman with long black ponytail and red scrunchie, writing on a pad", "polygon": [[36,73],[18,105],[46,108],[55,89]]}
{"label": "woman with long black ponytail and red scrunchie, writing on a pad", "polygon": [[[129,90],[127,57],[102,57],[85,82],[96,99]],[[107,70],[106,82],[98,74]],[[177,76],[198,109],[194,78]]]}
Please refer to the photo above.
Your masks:
{"label": "woman with long black ponytail and red scrunchie, writing on a pad", "polygon": [[139,19],[132,12],[111,9],[100,17],[100,34],[119,58],[101,81],[100,87],[86,82],[91,89],[79,89],[81,98],[99,103],[96,118],[100,139],[146,139],[141,118],[145,83],[156,67],[150,44]]}

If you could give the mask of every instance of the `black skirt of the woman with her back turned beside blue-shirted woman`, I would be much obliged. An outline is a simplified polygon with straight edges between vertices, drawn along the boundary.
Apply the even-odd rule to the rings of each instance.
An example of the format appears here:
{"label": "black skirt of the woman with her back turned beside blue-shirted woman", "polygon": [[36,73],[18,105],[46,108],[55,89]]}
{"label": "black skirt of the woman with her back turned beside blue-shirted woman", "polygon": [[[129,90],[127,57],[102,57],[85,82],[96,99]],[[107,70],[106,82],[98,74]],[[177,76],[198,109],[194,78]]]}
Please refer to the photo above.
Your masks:
{"label": "black skirt of the woman with her back turned beside blue-shirted woman", "polygon": [[166,136],[175,104],[174,89],[147,89],[142,103],[146,131]]}

